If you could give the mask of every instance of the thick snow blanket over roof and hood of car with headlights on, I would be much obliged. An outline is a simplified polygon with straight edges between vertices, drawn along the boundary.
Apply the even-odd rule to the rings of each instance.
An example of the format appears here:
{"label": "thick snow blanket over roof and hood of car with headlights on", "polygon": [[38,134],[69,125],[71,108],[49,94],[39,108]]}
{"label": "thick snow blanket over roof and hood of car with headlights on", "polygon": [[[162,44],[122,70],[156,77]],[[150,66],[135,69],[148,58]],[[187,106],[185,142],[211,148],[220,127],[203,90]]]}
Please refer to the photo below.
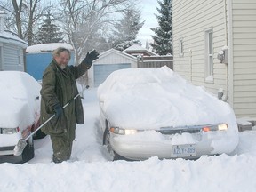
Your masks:
{"label": "thick snow blanket over roof and hood of car with headlights on", "polygon": [[215,123],[236,127],[228,103],[167,67],[118,70],[100,84],[98,99],[111,125],[126,129]]}

